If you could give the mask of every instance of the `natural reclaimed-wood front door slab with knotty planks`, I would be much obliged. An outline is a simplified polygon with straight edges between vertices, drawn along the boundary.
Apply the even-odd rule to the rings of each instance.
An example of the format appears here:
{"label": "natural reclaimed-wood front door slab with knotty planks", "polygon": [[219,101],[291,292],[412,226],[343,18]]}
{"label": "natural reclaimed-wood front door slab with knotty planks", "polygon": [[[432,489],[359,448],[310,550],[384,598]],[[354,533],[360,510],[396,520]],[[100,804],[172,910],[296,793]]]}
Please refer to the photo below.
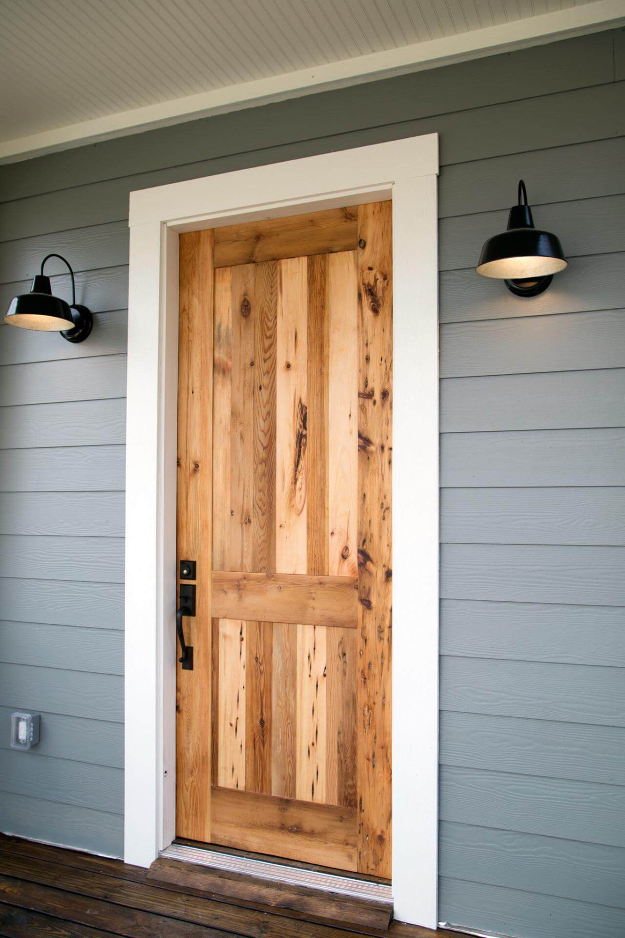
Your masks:
{"label": "natural reclaimed-wood front door slab with knotty planks", "polygon": [[391,876],[391,203],[180,237],[179,837]]}

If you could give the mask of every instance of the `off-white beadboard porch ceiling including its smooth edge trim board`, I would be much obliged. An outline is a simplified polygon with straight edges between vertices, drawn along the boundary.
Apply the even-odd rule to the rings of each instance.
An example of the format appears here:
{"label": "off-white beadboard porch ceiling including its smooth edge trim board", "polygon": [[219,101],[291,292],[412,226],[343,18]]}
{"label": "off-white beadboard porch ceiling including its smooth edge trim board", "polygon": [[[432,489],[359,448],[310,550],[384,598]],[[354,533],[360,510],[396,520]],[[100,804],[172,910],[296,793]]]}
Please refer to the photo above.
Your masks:
{"label": "off-white beadboard porch ceiling including its smooth edge trim board", "polygon": [[0,18],[0,159],[23,159],[606,28],[625,3],[0,0]]}

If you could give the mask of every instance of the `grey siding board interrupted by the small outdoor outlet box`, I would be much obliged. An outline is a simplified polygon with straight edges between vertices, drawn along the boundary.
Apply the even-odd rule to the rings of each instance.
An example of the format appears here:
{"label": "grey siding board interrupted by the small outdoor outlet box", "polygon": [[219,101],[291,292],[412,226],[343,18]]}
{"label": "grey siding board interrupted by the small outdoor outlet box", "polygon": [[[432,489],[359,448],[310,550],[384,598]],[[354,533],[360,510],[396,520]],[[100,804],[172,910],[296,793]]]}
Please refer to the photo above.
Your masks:
{"label": "grey siding board interrupted by the small outdoor outlet box", "polygon": [[[0,707],[3,726],[8,725],[10,715],[11,707]],[[8,749],[7,733],[0,734],[0,749]],[[42,713],[37,754],[123,768],[124,727],[102,719]]]}

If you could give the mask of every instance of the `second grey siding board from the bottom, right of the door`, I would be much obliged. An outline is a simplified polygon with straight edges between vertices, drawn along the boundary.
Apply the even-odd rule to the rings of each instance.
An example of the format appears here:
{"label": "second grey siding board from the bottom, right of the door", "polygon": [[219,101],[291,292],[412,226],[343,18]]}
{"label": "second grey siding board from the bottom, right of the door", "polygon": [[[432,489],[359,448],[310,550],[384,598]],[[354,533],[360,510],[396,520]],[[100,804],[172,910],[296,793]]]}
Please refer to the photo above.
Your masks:
{"label": "second grey siding board from the bottom, right of the door", "polygon": [[622,847],[443,822],[439,848],[441,876],[625,909]]}

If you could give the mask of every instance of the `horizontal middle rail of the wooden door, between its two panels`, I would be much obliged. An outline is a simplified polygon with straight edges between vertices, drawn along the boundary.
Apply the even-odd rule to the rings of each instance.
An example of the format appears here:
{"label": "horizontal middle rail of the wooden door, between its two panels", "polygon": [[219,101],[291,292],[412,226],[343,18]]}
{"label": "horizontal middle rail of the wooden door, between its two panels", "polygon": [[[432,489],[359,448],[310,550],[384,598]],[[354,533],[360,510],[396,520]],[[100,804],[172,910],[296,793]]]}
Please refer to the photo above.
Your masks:
{"label": "horizontal middle rail of the wooden door, between its two panels", "polygon": [[212,612],[221,619],[356,628],[356,585],[355,577],[216,571]]}

